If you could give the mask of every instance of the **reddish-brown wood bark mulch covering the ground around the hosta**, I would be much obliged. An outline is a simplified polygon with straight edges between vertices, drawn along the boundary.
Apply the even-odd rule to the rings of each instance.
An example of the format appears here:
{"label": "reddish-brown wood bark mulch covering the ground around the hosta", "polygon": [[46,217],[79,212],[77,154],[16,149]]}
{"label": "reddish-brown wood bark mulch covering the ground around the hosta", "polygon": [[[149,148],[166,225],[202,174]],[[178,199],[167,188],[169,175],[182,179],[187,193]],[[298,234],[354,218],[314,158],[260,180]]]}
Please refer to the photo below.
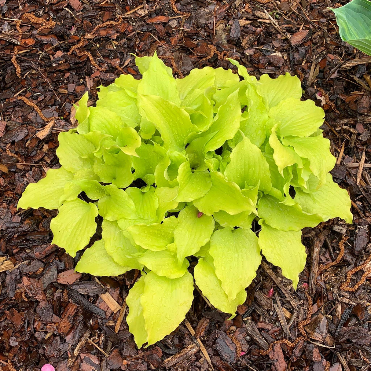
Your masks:
{"label": "reddish-brown wood bark mulch covering the ground around the hosta", "polygon": [[[204,371],[209,368],[206,352],[196,338],[221,371],[323,371],[325,360],[331,371],[370,367],[370,279],[355,293],[339,287],[346,272],[370,253],[371,58],[341,42],[327,9],[330,1],[249,4],[185,0],[177,7],[191,16],[183,16],[167,1],[147,0],[144,8],[131,0],[0,0],[0,368],[33,371],[48,362],[58,371]],[[22,16],[31,12],[56,23]],[[93,30],[119,15],[121,22]],[[19,35],[14,20],[21,18]],[[38,32],[40,26],[49,28]],[[80,52],[68,55],[83,35]],[[303,231],[308,261],[297,292],[276,267],[263,263],[233,321],[207,306],[195,290],[190,325],[182,323],[164,341],[138,352],[127,330],[125,306],[121,310],[138,272],[100,282],[74,273],[75,259],[50,245],[49,223],[56,212],[17,213],[16,204],[28,183],[58,167],[58,132],[76,124],[72,103],[86,90],[95,101],[97,86],[113,82],[120,69],[138,75],[130,53],[174,55],[183,74],[200,61],[232,68],[217,53],[207,59],[209,45],[230,52],[256,76],[285,71],[301,76],[304,97],[326,111],[322,128],[338,157],[332,174],[351,195],[354,224],[332,220]],[[15,46],[21,78],[11,62]],[[83,50],[91,52],[98,69]],[[31,99],[55,122],[48,125],[15,95]],[[335,260],[344,235],[349,237],[344,257],[316,281],[318,262]],[[353,276],[353,284],[362,273]],[[310,341],[295,348],[275,345],[269,356],[260,356],[256,350],[275,339],[298,336],[298,323],[307,312],[302,284],[308,282],[314,304],[306,327]],[[187,325],[196,330],[194,336]]]}

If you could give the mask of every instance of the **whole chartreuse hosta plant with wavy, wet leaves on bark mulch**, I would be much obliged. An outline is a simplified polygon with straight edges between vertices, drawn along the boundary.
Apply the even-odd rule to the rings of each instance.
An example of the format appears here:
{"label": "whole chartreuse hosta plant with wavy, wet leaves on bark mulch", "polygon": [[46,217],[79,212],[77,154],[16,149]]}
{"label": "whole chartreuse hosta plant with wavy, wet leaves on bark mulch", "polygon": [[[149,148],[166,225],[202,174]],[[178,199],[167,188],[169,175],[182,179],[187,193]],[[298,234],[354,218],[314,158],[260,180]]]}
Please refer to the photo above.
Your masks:
{"label": "whole chartreuse hosta plant with wavy, wet leaves on bark mulch", "polygon": [[329,174],[335,158],[319,129],[322,108],[301,100],[298,78],[258,81],[230,62],[238,74],[205,67],[175,79],[157,55],[136,58],[142,79],[101,86],[96,106],[85,93],[78,127],[58,137],[61,167],[18,203],[58,209],[53,243],[73,257],[101,225],[77,271],[141,271],[127,296],[138,347],[177,328],[194,281],[233,316],[261,253],[296,289],[301,229],[352,222],[348,193]]}

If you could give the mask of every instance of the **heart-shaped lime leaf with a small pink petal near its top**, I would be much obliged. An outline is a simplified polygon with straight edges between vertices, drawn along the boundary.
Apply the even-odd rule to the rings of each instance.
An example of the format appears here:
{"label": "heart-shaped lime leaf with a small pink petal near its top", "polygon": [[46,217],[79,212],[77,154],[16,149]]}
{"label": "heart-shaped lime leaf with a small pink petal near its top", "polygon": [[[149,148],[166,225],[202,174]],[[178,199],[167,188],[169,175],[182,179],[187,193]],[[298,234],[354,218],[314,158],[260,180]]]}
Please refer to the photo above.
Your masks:
{"label": "heart-shaped lime leaf with a small pink petal near its top", "polygon": [[198,217],[194,206],[186,206],[178,215],[178,225],[174,230],[174,242],[177,246],[178,263],[181,264],[186,256],[196,253],[204,246],[214,231],[212,216]]}

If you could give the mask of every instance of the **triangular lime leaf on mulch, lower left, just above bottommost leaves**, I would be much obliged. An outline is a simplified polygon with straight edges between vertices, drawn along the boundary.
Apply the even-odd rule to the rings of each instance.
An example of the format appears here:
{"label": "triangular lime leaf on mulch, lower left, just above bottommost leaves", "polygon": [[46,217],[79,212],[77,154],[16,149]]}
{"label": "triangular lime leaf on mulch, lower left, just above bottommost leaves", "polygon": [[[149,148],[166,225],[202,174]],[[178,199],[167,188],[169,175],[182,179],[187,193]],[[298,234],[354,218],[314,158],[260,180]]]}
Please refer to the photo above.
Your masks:
{"label": "triangular lime leaf on mulch, lower left, just above bottommost leaves", "polygon": [[93,276],[119,276],[130,270],[115,262],[104,248],[104,240],[94,242],[86,249],[76,264],[76,272],[89,273]]}

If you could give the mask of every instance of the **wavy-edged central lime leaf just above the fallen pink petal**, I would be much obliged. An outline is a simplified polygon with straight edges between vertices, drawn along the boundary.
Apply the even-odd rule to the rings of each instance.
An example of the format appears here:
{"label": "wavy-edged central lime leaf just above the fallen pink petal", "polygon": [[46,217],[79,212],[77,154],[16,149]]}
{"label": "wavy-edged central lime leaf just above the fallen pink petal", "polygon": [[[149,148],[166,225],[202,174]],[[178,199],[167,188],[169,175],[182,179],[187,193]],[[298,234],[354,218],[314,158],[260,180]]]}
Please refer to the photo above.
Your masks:
{"label": "wavy-edged central lime leaf just above the fallen pink petal", "polygon": [[229,182],[219,172],[211,172],[212,186],[205,196],[194,200],[193,204],[206,215],[213,215],[224,210],[231,215],[250,211],[256,213],[255,205],[250,198],[243,196],[236,183]]}

